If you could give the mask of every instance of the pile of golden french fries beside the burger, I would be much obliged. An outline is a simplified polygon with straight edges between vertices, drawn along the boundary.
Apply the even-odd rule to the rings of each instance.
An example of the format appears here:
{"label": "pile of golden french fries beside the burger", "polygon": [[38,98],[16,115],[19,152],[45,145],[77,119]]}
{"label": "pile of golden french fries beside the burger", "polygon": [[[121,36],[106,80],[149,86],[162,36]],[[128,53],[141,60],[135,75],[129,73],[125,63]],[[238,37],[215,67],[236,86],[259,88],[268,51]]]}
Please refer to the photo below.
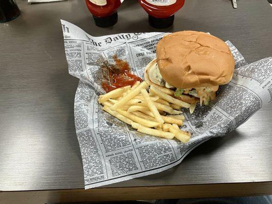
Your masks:
{"label": "pile of golden french fries beside the burger", "polygon": [[148,87],[146,82],[136,82],[132,87],[121,87],[100,95],[98,103],[104,106],[104,111],[138,132],[188,142],[191,134],[180,130],[179,126],[184,120],[181,108],[191,109],[192,105],[172,97],[169,89],[151,85],[147,92]]}

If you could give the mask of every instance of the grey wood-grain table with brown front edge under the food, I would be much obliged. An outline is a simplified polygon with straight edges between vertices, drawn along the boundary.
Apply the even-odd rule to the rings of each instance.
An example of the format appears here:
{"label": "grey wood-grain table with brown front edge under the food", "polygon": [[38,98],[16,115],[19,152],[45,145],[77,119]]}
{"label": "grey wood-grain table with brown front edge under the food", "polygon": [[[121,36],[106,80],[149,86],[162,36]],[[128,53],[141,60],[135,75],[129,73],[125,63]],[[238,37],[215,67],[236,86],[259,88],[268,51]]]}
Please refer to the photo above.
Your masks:
{"label": "grey wood-grain table with brown front edge under the food", "polygon": [[[190,0],[165,32],[197,30],[231,40],[248,62],[272,56],[267,1]],[[98,28],[84,1],[27,4],[0,24],[1,203],[157,199],[272,194],[272,115],[264,108],[229,135],[197,147],[167,171],[83,190],[73,122],[78,79],[70,76],[60,19],[94,36],[152,32],[147,14],[127,0],[112,28]],[[66,189],[66,190],[65,190]],[[23,191],[23,192],[21,192]]]}

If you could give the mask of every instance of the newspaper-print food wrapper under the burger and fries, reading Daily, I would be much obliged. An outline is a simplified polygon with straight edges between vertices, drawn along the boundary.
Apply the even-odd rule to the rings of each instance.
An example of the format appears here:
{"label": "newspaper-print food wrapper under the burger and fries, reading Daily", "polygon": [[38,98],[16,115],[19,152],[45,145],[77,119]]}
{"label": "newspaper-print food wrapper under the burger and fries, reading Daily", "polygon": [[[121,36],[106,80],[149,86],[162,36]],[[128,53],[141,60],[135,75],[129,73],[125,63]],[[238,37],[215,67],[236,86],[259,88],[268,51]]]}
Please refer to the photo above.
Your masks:
{"label": "newspaper-print food wrapper under the burger and fries, reading Daily", "polygon": [[220,86],[209,106],[183,109],[182,130],[192,133],[186,144],[135,132],[102,110],[98,95],[102,71],[97,59],[113,55],[126,60],[143,79],[145,66],[156,57],[156,44],[166,33],[123,33],[93,37],[61,20],[69,73],[80,79],[75,96],[75,124],[81,149],[85,189],[157,173],[179,164],[189,152],[212,137],[233,131],[271,102],[272,58],[248,64],[227,41],[235,59],[232,81]]}

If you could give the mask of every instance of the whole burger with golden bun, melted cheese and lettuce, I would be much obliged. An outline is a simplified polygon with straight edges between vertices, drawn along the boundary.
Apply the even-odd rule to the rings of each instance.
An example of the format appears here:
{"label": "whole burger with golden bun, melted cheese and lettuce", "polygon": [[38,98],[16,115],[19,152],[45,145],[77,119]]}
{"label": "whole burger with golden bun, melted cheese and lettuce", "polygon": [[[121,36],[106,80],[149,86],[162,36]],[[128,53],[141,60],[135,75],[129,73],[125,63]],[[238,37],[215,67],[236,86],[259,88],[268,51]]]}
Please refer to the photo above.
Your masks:
{"label": "whole burger with golden bun, melted cheese and lettuce", "polygon": [[210,34],[168,34],[156,52],[157,58],[145,68],[145,81],[189,104],[209,105],[219,85],[232,79],[235,63],[230,48]]}

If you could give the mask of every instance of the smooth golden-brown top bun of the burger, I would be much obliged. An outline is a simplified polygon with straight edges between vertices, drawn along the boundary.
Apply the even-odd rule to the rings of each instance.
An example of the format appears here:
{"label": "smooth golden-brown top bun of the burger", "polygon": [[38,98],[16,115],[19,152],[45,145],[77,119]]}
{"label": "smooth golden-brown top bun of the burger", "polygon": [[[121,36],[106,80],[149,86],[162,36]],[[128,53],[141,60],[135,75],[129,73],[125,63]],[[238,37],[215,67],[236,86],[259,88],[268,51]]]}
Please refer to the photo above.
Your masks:
{"label": "smooth golden-brown top bun of the burger", "polygon": [[162,78],[177,88],[227,84],[235,66],[224,41],[196,31],[164,36],[157,45],[157,62]]}

